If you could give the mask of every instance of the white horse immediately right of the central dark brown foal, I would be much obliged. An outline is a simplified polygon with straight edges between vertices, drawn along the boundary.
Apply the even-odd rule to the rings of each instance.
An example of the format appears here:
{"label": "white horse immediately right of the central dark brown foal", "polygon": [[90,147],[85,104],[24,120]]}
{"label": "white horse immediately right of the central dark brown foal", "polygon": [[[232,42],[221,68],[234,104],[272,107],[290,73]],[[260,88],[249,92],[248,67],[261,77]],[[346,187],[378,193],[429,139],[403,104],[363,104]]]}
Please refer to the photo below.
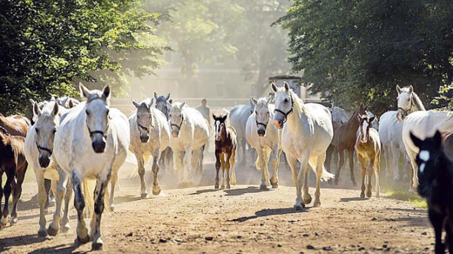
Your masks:
{"label": "white horse immediately right of the central dark brown foal", "polygon": [[[278,165],[280,164],[280,154],[282,153],[281,133],[282,130],[275,128],[270,122],[274,116],[275,106],[270,104],[272,97],[261,98],[258,101],[253,97],[251,100],[256,105],[246,125],[246,138],[258,157],[255,167],[262,170],[261,189],[267,189],[269,183],[272,188],[278,187]],[[269,159],[273,169],[272,179],[269,182]]]}

